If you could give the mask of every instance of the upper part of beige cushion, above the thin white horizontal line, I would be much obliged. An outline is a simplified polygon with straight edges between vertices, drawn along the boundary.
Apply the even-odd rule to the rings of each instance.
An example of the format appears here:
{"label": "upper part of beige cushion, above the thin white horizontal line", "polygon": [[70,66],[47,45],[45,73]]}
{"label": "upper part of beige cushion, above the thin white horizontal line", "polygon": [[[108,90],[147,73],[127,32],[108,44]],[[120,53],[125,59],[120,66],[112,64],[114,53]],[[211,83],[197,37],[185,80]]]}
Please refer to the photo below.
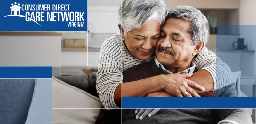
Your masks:
{"label": "upper part of beige cushion, above the thin white horizontal line", "polygon": [[53,108],[100,108],[100,98],[52,77]]}

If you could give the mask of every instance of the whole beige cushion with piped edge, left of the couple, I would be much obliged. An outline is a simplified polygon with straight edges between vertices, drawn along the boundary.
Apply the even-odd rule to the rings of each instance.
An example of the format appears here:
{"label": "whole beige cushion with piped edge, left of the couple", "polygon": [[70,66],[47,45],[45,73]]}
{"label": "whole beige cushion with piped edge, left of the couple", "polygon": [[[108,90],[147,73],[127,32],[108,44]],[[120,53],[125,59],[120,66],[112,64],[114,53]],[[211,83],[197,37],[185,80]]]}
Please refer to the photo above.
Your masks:
{"label": "whole beige cushion with piped edge, left of the couple", "polygon": [[100,99],[52,77],[53,124],[91,124],[96,121]]}

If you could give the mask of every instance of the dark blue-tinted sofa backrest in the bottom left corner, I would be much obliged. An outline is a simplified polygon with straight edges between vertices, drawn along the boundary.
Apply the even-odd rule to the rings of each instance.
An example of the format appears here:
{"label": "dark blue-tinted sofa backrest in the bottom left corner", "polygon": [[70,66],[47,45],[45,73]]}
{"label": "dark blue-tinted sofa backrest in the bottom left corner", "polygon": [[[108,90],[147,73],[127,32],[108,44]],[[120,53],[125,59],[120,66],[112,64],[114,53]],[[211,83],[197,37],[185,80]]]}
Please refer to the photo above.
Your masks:
{"label": "dark blue-tinted sofa backrest in the bottom left corner", "polygon": [[25,124],[35,79],[0,79],[0,124]]}

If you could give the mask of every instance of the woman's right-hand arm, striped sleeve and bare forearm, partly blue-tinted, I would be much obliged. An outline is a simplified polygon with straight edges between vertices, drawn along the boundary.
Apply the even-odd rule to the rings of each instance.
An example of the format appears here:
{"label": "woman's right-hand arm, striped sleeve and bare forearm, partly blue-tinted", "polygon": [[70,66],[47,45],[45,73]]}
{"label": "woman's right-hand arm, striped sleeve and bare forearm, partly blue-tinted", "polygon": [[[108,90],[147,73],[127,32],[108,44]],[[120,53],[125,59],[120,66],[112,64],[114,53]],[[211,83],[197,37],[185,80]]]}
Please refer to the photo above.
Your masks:
{"label": "woman's right-hand arm, striped sleeve and bare forearm, partly blue-tinted", "polygon": [[194,57],[193,61],[198,71],[188,79],[204,86],[205,92],[217,90],[232,83],[233,77],[229,66],[206,47]]}

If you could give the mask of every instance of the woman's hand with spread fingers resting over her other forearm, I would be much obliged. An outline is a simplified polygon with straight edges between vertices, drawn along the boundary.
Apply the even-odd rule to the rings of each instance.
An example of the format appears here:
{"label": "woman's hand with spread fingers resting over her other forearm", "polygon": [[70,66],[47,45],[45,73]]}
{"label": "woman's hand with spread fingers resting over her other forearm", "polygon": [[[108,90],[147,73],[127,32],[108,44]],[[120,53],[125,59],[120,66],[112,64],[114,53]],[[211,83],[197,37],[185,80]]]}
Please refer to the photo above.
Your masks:
{"label": "woman's hand with spread fingers resting over her other forearm", "polygon": [[186,92],[188,92],[188,94],[185,96],[199,96],[193,88],[200,91],[204,91],[205,89],[196,82],[186,79],[192,75],[193,73],[161,75],[161,82],[164,84],[163,90],[173,96],[183,96]]}

